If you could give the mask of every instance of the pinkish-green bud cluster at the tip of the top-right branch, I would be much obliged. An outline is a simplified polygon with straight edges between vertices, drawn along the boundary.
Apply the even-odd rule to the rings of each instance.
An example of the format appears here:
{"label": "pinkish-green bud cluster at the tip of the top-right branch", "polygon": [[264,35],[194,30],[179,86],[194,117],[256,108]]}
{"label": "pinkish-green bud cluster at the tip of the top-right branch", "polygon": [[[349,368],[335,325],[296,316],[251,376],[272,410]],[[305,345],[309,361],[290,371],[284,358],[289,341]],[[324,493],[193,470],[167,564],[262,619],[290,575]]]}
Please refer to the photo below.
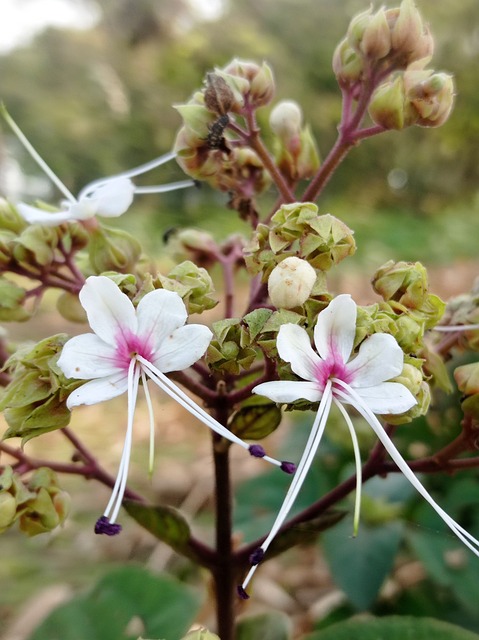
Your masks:
{"label": "pinkish-green bud cluster at the tip of the top-right branch", "polygon": [[368,110],[381,127],[438,127],[451,112],[454,84],[450,75],[426,69],[433,50],[413,0],[403,0],[399,7],[375,13],[370,8],[353,18],[336,48],[333,69],[354,96],[362,82],[379,79]]}

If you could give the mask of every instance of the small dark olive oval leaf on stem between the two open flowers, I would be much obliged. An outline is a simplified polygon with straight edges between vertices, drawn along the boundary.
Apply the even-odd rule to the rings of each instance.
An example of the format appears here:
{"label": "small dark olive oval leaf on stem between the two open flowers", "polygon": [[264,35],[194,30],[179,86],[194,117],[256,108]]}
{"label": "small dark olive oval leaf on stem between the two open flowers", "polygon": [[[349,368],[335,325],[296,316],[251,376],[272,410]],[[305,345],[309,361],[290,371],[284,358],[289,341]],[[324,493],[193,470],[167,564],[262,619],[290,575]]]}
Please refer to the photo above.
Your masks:
{"label": "small dark olive oval leaf on stem between the two open flowers", "polygon": [[243,440],[261,440],[276,430],[281,418],[281,409],[274,402],[253,398],[234,414],[228,427]]}

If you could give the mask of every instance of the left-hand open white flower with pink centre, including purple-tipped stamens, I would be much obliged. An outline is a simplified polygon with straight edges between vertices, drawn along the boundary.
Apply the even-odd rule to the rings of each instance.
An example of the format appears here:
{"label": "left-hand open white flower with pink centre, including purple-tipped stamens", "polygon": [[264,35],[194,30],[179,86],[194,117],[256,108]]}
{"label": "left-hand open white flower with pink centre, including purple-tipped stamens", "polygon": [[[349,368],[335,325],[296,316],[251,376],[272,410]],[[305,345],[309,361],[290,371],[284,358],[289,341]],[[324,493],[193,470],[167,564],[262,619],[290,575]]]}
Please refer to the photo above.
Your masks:
{"label": "left-hand open white flower with pink centre, including purple-tipped stamens", "polygon": [[98,520],[96,533],[115,535],[115,524],[125,492],[132,443],[133,417],[140,380],[150,414],[150,471],[153,465],[154,422],[147,378],[179,402],[191,414],[220,436],[291,472],[287,463],[269,456],[259,445],[248,446],[214,420],[165,374],[191,366],[205,353],[212,333],[203,325],[185,324],[187,311],[181,297],[158,289],[147,293],[137,308],[105,276],[90,276],[80,291],[90,327],[94,333],[71,338],[63,347],[58,366],[65,376],[88,380],[67,400],[69,409],[95,404],[128,393],[128,418],[120,469],[110,502]]}

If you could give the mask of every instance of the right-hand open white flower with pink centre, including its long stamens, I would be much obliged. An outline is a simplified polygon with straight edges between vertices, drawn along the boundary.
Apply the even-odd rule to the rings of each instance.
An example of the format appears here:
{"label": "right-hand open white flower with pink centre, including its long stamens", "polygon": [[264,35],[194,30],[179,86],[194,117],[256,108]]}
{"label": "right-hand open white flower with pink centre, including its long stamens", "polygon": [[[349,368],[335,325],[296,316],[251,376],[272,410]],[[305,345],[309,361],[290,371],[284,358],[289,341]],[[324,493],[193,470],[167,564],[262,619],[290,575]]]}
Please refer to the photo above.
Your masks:
{"label": "right-hand open white flower with pink centre, including its long stamens", "polygon": [[239,595],[247,598],[246,586],[261,562],[271,541],[285,521],[301,489],[324,433],[331,405],[335,404],[343,415],[353,441],[356,460],[356,506],[354,534],[359,522],[361,488],[361,461],[353,424],[343,404],[353,406],[369,423],[386,451],[411,482],[414,488],[429,502],[458,538],[476,555],[479,541],[455,522],[429,495],[411,471],[383,426],[378,414],[400,414],[416,404],[411,392],[402,384],[388,382],[403,369],[404,354],[395,338],[389,334],[375,333],[360,345],[353,354],[356,332],[357,307],[349,295],[340,295],[319,315],[314,328],[314,344],[304,329],[294,324],[283,325],[278,333],[277,347],[280,357],[291,364],[291,369],[302,381],[280,380],[265,382],[253,389],[275,402],[291,403],[305,399],[319,402],[303,456],[295,476],[267,538],[251,557],[253,565]]}

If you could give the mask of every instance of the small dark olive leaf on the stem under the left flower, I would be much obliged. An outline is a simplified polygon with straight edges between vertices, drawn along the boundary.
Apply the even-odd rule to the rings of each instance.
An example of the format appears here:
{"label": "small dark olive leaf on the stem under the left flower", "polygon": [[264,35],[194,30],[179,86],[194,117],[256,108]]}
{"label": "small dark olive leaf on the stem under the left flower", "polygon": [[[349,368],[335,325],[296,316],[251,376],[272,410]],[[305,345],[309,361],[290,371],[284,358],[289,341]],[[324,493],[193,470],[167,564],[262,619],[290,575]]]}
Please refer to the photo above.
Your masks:
{"label": "small dark olive leaf on the stem under the left flower", "polygon": [[188,544],[190,527],[179,511],[173,507],[145,505],[133,500],[124,500],[123,506],[155,538],[165,542],[177,553],[195,559]]}

